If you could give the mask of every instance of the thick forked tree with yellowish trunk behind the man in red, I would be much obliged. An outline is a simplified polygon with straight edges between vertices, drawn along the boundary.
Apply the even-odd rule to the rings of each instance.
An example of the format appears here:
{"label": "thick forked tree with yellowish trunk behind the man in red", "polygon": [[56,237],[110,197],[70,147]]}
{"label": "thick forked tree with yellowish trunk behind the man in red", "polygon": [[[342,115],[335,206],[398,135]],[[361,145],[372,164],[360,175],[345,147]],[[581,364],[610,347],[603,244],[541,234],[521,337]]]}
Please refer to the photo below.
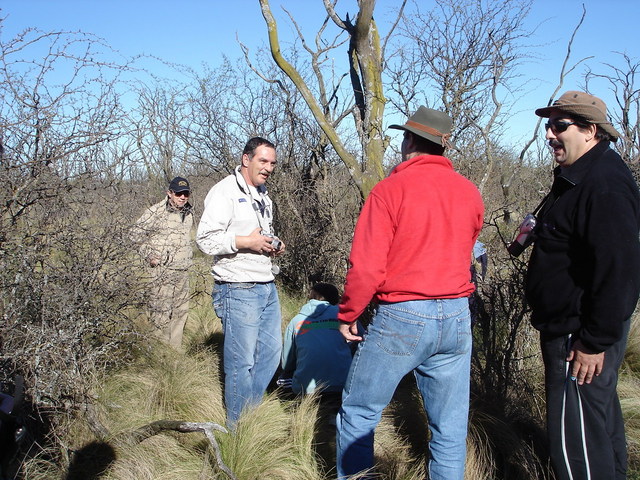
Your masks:
{"label": "thick forked tree with yellowish trunk behind the man in red", "polygon": [[[382,71],[384,67],[384,47],[373,19],[375,0],[359,0],[359,11],[355,21],[347,14],[342,19],[336,12],[335,3],[324,0],[327,18],[315,38],[315,49],[311,48],[302,32],[297,28],[304,49],[311,57],[312,71],[318,95],[301,75],[300,71],[287,61],[281,50],[278,27],[268,0],[259,0],[262,14],[269,31],[271,55],[278,67],[287,75],[300,92],[315,121],[320,126],[328,143],[335,149],[340,159],[349,169],[351,176],[366,197],[373,186],[384,176],[383,159],[388,146],[388,138],[383,132],[386,99],[383,92]],[[406,1],[400,6],[400,12]],[[291,18],[291,17],[290,17]],[[327,62],[327,52],[335,49],[343,40],[340,36],[330,41],[323,39],[328,22],[333,22],[339,31],[349,38],[349,77],[353,102],[348,110],[335,111],[332,108],[339,93],[340,80],[331,88],[322,74],[322,65]],[[347,116],[352,116],[361,146],[361,154],[350,151],[341,139],[339,126]]]}

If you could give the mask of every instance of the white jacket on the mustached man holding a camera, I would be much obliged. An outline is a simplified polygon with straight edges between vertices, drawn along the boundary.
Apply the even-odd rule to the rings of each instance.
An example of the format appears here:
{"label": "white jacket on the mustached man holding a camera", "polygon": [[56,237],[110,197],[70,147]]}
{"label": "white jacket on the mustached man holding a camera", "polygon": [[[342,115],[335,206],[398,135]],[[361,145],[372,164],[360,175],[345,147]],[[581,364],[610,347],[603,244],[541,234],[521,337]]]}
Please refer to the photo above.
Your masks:
{"label": "white jacket on the mustached man holding a camera", "polygon": [[[264,214],[259,202],[264,202]],[[271,233],[273,204],[264,187],[247,185],[240,167],[234,175],[216,183],[204,200],[204,212],[198,224],[196,243],[207,255],[213,255],[212,274],[220,282],[270,282],[271,257],[250,250],[238,250],[236,235],[249,235],[261,227]]]}

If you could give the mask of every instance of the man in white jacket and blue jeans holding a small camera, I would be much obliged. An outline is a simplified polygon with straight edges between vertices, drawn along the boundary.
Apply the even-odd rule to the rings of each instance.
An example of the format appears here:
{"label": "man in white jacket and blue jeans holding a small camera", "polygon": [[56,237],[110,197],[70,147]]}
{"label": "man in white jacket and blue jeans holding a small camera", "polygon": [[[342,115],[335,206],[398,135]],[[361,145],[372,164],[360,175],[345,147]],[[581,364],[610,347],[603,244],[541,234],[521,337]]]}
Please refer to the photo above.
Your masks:
{"label": "man in white jacket and blue jeans holding a small camera", "polygon": [[284,243],[273,235],[273,204],[265,187],[275,166],[275,146],[264,138],[251,138],[234,174],[207,194],[198,225],[198,247],[214,256],[212,297],[224,332],[230,428],[245,408],[260,402],[282,349],[272,257],[284,252]]}

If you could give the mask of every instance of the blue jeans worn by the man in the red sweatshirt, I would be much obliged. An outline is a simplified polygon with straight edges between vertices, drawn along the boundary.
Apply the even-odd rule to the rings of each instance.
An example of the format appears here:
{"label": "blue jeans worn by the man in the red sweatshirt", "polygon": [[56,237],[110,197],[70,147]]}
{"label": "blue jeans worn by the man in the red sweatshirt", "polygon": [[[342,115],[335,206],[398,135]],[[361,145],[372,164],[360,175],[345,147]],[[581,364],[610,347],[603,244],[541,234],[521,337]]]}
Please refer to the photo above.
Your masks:
{"label": "blue jeans worn by the man in the red sweatshirt", "polygon": [[470,358],[466,297],[379,305],[342,394],[336,422],[338,478],[373,466],[374,430],[398,383],[413,371],[431,430],[430,478],[462,480]]}

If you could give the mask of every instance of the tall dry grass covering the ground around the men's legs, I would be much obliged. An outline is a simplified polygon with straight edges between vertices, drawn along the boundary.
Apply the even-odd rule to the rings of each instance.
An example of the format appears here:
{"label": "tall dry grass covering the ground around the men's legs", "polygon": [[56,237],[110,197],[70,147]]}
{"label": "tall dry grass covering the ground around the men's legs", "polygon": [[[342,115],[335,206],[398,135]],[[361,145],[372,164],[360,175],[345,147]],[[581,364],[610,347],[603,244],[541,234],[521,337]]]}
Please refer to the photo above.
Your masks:
{"label": "tall dry grass covering the ground around the men's legs", "polygon": [[[283,324],[305,299],[283,296]],[[640,458],[638,326],[630,338],[620,397],[627,424],[631,471]],[[135,442],[136,428],[155,420],[216,422],[224,425],[220,370],[220,322],[208,295],[194,299],[185,332],[185,352],[148,341],[128,368],[111,372],[96,387],[100,419],[111,432],[96,441],[84,419],[68,429],[67,452],[45,452],[23,469],[35,480],[205,480],[225,478],[203,434],[163,432]],[[636,365],[636,366],[634,366]],[[540,382],[541,377],[532,378]],[[235,433],[216,432],[225,464],[240,480],[335,478],[335,427],[314,396],[284,399],[279,392],[240,420]],[[522,401],[522,400],[521,400]],[[539,404],[532,398],[531,403]],[[519,406],[520,408],[523,405]],[[544,408],[532,409],[542,423]],[[532,407],[533,408],[533,407]],[[514,408],[508,417],[482,402],[472,403],[467,440],[466,480],[551,478],[534,430]],[[513,413],[516,412],[516,413]],[[385,410],[375,436],[375,475],[380,480],[418,480],[428,464],[427,419],[411,379],[402,382]],[[70,452],[70,453],[69,453]]]}

